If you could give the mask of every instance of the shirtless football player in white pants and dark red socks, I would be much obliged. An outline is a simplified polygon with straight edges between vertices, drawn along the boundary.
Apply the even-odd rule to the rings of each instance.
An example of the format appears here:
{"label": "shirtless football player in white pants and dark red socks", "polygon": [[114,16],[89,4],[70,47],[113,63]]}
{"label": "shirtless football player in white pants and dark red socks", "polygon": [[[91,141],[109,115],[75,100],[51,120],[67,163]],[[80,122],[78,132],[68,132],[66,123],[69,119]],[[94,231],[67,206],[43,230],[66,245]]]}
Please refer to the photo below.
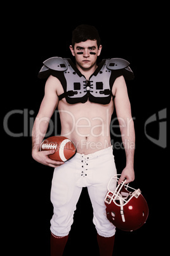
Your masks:
{"label": "shirtless football player in white pants and dark red socks", "polygon": [[[107,220],[104,204],[108,181],[116,174],[110,143],[110,120],[115,108],[126,152],[126,167],[122,171],[119,182],[126,178],[126,183],[129,183],[134,180],[134,146],[126,146],[129,143],[134,145],[135,137],[131,105],[124,80],[125,75],[116,73],[115,70],[112,72],[112,67],[117,64],[111,63],[110,70],[106,68],[109,68],[109,64],[107,66],[96,64],[97,57],[101,53],[101,45],[98,32],[94,27],[89,25],[77,27],[73,32],[70,50],[75,57],[75,66],[72,62],[62,59],[64,64],[60,66],[67,66],[69,69],[66,71],[54,73],[55,71],[50,69],[49,65],[49,68],[45,67],[40,72],[41,74],[45,70],[44,73],[46,73],[48,69],[51,73],[48,73],[44,98],[32,131],[32,157],[41,164],[55,167],[51,187],[51,202],[54,207],[54,215],[51,219],[51,256],[63,253],[82,187],[88,187],[100,255],[110,256],[114,246],[115,227]],[[56,59],[58,62],[61,58]],[[68,70],[74,71],[72,74],[76,77],[79,75],[80,80],[80,83],[74,83],[75,88],[72,89],[71,96],[69,96],[69,89],[67,90],[63,85],[65,80],[69,84],[67,75],[71,72]],[[109,85],[110,92],[108,89],[102,90],[105,89],[105,85],[101,82],[96,82],[96,87],[92,84],[95,80],[95,76],[92,76],[95,71],[97,76],[105,76],[105,74],[108,76],[108,72],[118,74],[114,76],[112,85]],[[65,73],[65,80],[60,79],[59,73]],[[132,73],[131,69],[130,73]],[[83,88],[81,79],[84,80]],[[108,81],[112,80],[109,78]],[[54,150],[39,151],[49,120],[56,108],[60,113],[61,135],[67,136],[77,148],[75,156],[64,164],[49,159],[48,155],[54,153]]]}

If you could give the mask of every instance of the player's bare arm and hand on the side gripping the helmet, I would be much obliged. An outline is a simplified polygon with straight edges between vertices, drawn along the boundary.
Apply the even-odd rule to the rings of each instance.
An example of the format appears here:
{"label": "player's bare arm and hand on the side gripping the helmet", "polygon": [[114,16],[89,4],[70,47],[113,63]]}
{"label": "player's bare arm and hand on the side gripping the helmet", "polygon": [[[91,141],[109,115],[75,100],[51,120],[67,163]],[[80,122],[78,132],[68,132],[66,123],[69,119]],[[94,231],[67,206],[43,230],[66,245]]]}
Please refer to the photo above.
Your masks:
{"label": "player's bare arm and hand on the side gripping the helmet", "polygon": [[122,143],[126,152],[126,167],[123,169],[119,183],[126,178],[126,183],[134,180],[134,122],[131,115],[131,104],[123,76],[115,80],[113,86],[114,104],[121,130]]}

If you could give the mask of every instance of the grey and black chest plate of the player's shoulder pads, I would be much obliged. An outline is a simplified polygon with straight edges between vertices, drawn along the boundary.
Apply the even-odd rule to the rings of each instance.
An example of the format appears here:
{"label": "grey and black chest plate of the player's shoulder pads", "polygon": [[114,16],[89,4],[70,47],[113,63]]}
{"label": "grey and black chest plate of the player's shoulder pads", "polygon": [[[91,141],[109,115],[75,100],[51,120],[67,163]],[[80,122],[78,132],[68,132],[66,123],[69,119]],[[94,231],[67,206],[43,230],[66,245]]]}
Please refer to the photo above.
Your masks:
{"label": "grey and black chest plate of the player's shoulder pads", "polygon": [[68,103],[110,103],[112,93],[110,90],[111,71],[107,69],[106,64],[102,68],[96,69],[95,73],[86,80],[80,72],[76,72],[67,60],[68,69],[64,71],[66,80],[65,99]]}

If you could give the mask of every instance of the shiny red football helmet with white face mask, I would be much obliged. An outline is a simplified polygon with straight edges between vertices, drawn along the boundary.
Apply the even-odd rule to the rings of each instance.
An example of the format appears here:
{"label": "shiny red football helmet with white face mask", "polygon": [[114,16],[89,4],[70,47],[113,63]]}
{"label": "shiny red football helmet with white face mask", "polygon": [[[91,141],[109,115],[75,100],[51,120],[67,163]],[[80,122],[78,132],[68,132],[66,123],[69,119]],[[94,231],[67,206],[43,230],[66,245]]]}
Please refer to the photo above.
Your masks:
{"label": "shiny red football helmet with white face mask", "polygon": [[115,179],[119,181],[119,175],[121,174],[113,176],[108,183],[105,196],[107,218],[122,231],[135,231],[145,224],[148,218],[148,204],[141,195],[141,190],[125,185],[126,180],[113,189]]}

